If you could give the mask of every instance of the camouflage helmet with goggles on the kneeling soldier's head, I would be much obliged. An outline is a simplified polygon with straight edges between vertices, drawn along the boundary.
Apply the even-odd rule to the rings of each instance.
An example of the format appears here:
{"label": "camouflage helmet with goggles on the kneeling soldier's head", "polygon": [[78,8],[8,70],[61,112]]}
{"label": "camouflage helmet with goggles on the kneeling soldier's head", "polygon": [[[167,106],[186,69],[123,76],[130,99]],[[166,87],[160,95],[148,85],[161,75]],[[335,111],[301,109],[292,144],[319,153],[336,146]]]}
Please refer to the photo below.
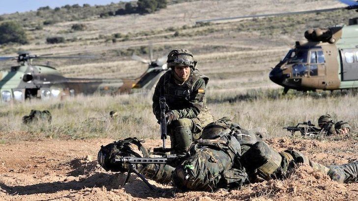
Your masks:
{"label": "camouflage helmet with goggles on the kneeling soldier's head", "polygon": [[193,54],[189,50],[172,50],[168,54],[167,60],[168,68],[173,68],[175,66],[190,66],[195,68],[196,61],[194,61]]}

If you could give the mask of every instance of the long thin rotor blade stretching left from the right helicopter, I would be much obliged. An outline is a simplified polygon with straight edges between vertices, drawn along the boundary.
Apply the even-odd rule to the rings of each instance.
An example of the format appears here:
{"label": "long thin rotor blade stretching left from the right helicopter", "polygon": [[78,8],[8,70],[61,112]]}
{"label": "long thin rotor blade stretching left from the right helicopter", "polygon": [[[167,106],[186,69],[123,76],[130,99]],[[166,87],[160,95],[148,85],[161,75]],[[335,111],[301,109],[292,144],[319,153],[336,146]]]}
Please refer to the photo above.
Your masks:
{"label": "long thin rotor blade stretching left from the right helicopter", "polygon": [[260,18],[260,17],[274,17],[274,16],[285,16],[285,15],[298,15],[298,14],[307,14],[307,13],[322,13],[322,12],[329,12],[329,11],[343,10],[343,9],[349,9],[349,7],[327,8],[327,9],[319,9],[319,10],[306,10],[306,11],[286,12],[286,13],[272,13],[272,14],[262,14],[262,15],[246,15],[246,16],[237,16],[237,17],[230,17],[230,18],[216,18],[210,20],[200,20],[200,21],[196,21],[196,23],[207,23],[207,22],[217,22],[217,21],[237,20],[237,19]]}

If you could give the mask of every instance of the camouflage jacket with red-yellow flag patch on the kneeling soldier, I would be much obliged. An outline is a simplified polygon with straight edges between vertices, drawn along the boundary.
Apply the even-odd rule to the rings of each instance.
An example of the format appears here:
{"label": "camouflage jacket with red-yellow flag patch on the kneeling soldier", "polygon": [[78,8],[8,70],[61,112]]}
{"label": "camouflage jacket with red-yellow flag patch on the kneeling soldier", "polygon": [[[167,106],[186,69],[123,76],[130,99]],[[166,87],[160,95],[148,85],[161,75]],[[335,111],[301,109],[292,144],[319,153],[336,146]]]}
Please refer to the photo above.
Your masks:
{"label": "camouflage jacket with red-yellow flag patch on the kneeling soldier", "polygon": [[172,71],[162,75],[155,87],[153,95],[153,113],[160,119],[159,98],[164,96],[170,110],[181,118],[195,118],[206,107],[206,85],[209,77],[202,75],[198,70],[191,72],[189,79],[182,85],[174,80]]}

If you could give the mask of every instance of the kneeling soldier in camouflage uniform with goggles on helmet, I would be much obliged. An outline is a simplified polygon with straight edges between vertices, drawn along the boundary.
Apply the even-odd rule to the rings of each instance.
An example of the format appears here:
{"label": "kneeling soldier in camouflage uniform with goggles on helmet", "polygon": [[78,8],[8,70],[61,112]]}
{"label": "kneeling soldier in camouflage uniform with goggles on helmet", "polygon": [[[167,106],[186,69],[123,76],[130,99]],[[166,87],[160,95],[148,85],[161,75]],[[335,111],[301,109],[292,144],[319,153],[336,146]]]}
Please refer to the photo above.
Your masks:
{"label": "kneeling soldier in camouflage uniform with goggles on helmet", "polygon": [[196,61],[189,50],[172,50],[168,68],[155,87],[153,113],[160,120],[160,97],[169,107],[165,116],[171,138],[172,153],[185,154],[193,140],[199,139],[205,126],[213,121],[206,106],[209,77],[195,69]]}

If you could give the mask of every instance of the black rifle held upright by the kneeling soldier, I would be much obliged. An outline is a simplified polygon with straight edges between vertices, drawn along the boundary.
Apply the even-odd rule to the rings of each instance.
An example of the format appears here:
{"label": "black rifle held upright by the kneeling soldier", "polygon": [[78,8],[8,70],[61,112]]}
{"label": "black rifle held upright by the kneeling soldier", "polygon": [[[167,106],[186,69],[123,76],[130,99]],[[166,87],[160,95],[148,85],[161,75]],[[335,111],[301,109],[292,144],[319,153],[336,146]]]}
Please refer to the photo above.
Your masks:
{"label": "black rifle held upright by the kneeling soldier", "polygon": [[165,140],[167,139],[168,131],[167,131],[167,119],[165,118],[165,113],[168,110],[168,105],[164,96],[159,98],[160,105],[160,139],[163,140],[163,146],[161,148],[154,148],[154,152],[169,152],[171,149],[165,148]]}

